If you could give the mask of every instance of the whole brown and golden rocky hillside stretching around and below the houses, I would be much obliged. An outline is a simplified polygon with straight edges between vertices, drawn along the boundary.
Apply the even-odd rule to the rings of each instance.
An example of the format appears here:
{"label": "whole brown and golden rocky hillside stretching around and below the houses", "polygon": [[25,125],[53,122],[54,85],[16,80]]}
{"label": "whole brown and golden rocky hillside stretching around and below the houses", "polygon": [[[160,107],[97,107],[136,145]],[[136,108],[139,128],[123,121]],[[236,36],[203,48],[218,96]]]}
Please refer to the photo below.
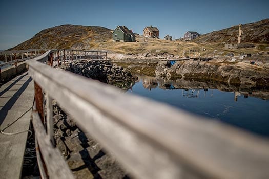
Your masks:
{"label": "whole brown and golden rocky hillside stretching around and below the houses", "polygon": [[[236,43],[238,26],[215,31],[200,36],[194,41],[163,40],[148,38],[136,34],[136,42],[112,41],[111,29],[98,26],[61,25],[45,29],[31,39],[18,44],[10,50],[23,49],[77,49],[104,50],[110,59],[173,59],[185,56],[197,57],[198,51],[203,56],[225,56],[229,52],[256,54],[269,52],[269,19],[257,23],[242,25],[242,43],[255,43],[251,48],[227,51],[225,43]],[[202,49],[206,49],[203,51]],[[191,52],[190,52],[191,51]]]}

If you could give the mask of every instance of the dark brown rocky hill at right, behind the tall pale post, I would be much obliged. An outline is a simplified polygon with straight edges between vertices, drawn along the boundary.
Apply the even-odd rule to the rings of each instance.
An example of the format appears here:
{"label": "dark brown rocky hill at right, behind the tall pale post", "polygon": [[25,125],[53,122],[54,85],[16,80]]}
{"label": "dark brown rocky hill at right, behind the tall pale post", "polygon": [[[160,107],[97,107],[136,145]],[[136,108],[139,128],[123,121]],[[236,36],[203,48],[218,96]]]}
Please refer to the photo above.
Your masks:
{"label": "dark brown rocky hill at right, behind the tall pale post", "polygon": [[[237,43],[239,26],[214,31],[201,35],[195,42],[212,43],[226,42]],[[255,23],[242,25],[241,43],[269,43],[269,19],[264,19]]]}

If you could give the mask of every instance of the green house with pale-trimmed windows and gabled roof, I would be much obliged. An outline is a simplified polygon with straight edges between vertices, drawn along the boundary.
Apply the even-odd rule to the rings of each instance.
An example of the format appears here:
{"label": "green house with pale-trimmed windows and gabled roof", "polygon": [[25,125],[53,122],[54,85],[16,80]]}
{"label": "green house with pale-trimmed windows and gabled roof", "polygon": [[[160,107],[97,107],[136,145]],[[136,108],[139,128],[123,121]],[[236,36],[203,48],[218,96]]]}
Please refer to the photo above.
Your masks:
{"label": "green house with pale-trimmed windows and gabled roof", "polygon": [[113,41],[132,42],[135,41],[135,35],[126,26],[117,26],[112,33],[112,39]]}

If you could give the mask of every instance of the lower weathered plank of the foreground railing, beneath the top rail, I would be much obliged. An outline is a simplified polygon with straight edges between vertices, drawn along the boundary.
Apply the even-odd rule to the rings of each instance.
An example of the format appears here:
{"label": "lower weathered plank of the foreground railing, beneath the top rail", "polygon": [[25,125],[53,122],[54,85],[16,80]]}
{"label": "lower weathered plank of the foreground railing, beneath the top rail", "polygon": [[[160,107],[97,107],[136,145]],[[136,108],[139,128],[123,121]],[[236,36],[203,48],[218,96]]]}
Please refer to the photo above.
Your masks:
{"label": "lower weathered plank of the foreground railing, beneath the top rail", "polygon": [[45,128],[36,111],[33,111],[32,113],[32,123],[34,126],[39,150],[41,151],[43,160],[49,172],[49,177],[74,178],[60,152],[51,145],[50,139],[46,135]]}

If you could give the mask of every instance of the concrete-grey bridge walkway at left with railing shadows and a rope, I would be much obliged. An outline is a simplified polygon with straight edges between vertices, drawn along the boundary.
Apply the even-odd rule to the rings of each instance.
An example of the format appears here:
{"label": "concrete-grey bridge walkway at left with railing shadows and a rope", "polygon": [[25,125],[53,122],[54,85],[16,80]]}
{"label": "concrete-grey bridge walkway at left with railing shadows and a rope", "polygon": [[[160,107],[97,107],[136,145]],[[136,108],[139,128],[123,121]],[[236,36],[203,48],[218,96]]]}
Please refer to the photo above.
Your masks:
{"label": "concrete-grey bridge walkway at left with railing shadows and a rope", "polygon": [[[21,178],[33,100],[34,85],[28,72],[0,87],[1,178]],[[20,131],[24,132],[14,134]]]}

